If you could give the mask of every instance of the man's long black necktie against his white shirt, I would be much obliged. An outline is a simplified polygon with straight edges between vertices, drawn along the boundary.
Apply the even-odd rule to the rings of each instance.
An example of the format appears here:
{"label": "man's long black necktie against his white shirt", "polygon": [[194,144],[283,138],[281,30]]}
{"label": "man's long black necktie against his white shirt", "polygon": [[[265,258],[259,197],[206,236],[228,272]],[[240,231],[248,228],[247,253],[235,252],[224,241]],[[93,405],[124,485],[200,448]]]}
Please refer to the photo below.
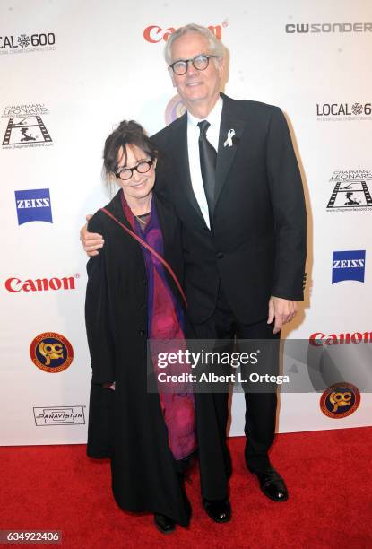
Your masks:
{"label": "man's long black necktie against his white shirt", "polygon": [[207,129],[211,124],[207,120],[202,120],[198,124],[200,129],[199,135],[199,154],[200,154],[200,168],[202,170],[203,186],[205,191],[205,197],[208,203],[209,218],[212,224],[212,212],[213,212],[213,200],[214,200],[214,186],[216,183],[216,160],[217,153],[207,139]]}

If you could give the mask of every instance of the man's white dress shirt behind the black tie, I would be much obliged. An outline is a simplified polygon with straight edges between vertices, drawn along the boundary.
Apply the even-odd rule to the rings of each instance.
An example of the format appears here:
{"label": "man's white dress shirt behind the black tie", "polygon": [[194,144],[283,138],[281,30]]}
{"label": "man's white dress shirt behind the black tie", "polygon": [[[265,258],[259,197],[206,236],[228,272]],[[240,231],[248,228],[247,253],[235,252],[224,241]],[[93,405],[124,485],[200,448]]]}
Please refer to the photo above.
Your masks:
{"label": "man's white dress shirt behind the black tie", "polygon": [[195,198],[203,213],[203,218],[209,229],[211,229],[211,223],[209,220],[208,203],[205,197],[205,191],[202,179],[202,170],[200,168],[199,157],[199,135],[200,129],[198,123],[203,120],[208,120],[211,124],[207,129],[207,139],[213,145],[215,150],[218,150],[219,137],[220,137],[220,125],[222,114],[223,100],[220,97],[214,105],[212,111],[207,118],[195,118],[192,114],[187,112],[187,149],[188,149],[188,163],[190,166],[190,177],[193,186]]}

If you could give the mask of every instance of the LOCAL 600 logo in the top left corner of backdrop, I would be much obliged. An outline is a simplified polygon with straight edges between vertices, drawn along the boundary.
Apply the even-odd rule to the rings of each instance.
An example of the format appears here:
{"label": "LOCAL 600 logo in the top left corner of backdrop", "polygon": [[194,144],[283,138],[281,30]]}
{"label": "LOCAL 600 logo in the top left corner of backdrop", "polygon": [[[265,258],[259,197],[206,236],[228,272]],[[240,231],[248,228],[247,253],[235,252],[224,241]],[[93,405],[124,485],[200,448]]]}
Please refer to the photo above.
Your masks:
{"label": "LOCAL 600 logo in the top left corner of backdrop", "polygon": [[0,36],[0,55],[20,54],[30,51],[47,51],[56,49],[54,32],[35,32],[34,34],[8,34]]}

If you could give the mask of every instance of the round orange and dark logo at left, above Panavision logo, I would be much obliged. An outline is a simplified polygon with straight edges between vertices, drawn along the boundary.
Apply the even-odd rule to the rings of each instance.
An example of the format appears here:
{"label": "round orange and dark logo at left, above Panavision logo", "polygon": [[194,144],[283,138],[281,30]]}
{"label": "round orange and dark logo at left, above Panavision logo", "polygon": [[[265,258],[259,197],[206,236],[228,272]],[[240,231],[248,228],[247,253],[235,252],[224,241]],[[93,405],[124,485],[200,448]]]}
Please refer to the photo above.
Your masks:
{"label": "round orange and dark logo at left, above Panavision logo", "polygon": [[74,359],[72,344],[63,335],[46,332],[30,344],[31,361],[40,370],[57,373],[66,370]]}

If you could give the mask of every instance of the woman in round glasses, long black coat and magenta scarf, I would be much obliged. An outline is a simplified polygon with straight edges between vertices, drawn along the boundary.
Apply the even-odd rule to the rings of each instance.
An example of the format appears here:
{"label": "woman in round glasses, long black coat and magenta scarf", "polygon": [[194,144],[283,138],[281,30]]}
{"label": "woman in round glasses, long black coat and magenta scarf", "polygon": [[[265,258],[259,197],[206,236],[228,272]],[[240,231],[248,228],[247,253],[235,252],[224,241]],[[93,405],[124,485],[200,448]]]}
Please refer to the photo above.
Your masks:
{"label": "woman in round glasses, long black coat and magenta scarf", "polygon": [[183,473],[196,449],[195,401],[191,393],[147,388],[147,339],[182,343],[186,330],[180,228],[154,190],[156,162],[154,145],[134,121],[121,122],[106,140],[104,168],[120,189],[89,222],[105,247],[87,266],[87,454],[110,458],[122,509],[151,511],[167,533],[190,518]]}

